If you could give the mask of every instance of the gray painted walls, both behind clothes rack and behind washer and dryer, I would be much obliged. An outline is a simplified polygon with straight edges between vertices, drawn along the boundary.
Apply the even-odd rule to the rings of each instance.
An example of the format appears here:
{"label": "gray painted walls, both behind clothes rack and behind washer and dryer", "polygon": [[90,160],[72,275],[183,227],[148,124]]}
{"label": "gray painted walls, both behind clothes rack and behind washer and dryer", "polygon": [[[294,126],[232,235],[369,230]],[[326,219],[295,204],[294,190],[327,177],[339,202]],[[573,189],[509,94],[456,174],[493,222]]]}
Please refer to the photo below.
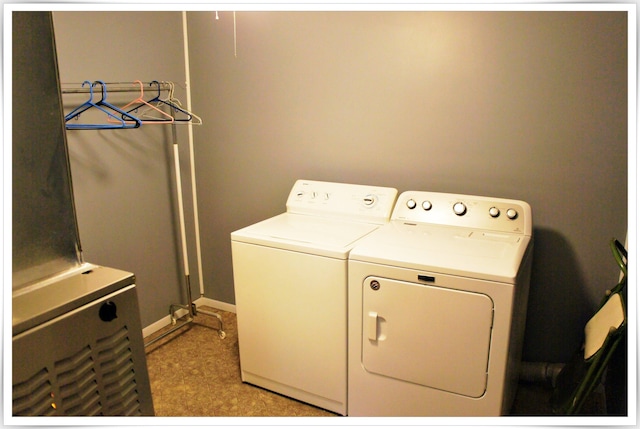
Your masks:
{"label": "gray painted walls, both behind clothes rack and behind washer and dryer", "polygon": [[[238,12],[237,57],[219,16],[188,14],[206,297],[234,302],[230,232],[298,178],[517,198],[524,358],[569,357],[627,229],[626,14]],[[54,14],[63,81],[184,81],[180,13],[77,17]],[[143,325],[180,295],[167,132],[68,133],[85,259],[136,273]]]}

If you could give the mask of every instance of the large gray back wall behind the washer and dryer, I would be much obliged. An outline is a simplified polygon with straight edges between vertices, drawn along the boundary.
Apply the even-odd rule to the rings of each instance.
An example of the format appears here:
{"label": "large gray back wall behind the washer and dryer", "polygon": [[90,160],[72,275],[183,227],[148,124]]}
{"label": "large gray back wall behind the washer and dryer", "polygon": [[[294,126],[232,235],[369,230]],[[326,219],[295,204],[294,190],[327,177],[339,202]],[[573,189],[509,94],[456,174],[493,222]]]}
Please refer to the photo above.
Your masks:
{"label": "large gray back wall behind the washer and dryer", "polygon": [[624,13],[190,13],[207,296],[297,178],[529,202],[524,357],[564,361],[627,228]]}

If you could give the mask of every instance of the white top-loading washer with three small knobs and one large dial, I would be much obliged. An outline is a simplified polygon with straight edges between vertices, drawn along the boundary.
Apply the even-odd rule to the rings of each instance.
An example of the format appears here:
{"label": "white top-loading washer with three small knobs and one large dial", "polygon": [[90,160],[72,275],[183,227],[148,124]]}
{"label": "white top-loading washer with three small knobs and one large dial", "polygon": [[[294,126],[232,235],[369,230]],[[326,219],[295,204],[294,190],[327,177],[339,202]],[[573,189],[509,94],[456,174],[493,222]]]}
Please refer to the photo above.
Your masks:
{"label": "white top-loading washer with three small knobs and one large dial", "polygon": [[287,211],[231,234],[242,380],[347,412],[347,265],[392,188],[299,180]]}

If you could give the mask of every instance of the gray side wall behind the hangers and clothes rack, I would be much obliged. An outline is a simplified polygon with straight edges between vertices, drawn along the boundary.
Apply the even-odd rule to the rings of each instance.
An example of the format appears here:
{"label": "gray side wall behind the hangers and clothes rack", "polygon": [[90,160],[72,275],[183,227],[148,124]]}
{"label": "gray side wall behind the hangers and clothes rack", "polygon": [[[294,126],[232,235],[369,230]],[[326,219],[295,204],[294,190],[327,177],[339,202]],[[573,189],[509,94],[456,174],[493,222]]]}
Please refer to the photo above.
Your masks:
{"label": "gray side wall behind the hangers and clothes rack", "polygon": [[[186,101],[180,12],[54,12],[53,17],[63,88],[68,83],[79,88],[84,80],[166,80],[182,85],[176,96]],[[139,96],[108,89],[107,101],[116,106]],[[99,98],[96,94],[94,101]],[[63,94],[65,113],[87,99],[87,94]],[[142,326],[148,326],[167,316],[169,305],[186,302],[171,126],[68,130],[67,140],[84,259],[136,275]],[[185,127],[178,126],[177,140],[186,209],[192,213]],[[197,298],[191,222],[187,230]]]}

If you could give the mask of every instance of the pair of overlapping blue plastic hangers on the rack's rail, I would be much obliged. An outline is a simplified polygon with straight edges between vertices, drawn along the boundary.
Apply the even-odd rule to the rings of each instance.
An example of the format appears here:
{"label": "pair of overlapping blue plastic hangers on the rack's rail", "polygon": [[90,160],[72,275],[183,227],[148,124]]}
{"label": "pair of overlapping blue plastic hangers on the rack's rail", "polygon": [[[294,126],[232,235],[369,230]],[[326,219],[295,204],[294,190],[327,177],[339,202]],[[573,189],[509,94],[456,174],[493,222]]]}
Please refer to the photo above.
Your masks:
{"label": "pair of overlapping blue plastic hangers on the rack's rail", "polygon": [[[100,83],[102,85],[102,99],[98,102],[93,101],[93,86]],[[104,130],[104,129],[120,129],[120,128],[138,128],[142,121],[136,118],[133,115],[117,108],[116,106],[107,102],[107,85],[101,81],[95,81],[93,84],[88,80],[85,80],[82,83],[82,86],[89,85],[89,100],[85,101],[82,105],[75,108],[71,111],[67,116],[65,116],[65,124],[68,130]],[[80,123],[69,123],[72,119],[77,119],[80,114],[86,112],[91,108],[96,108],[101,112],[104,112],[107,115],[107,119],[111,123],[102,123],[102,124],[80,124]],[[110,112],[108,109],[120,115],[120,117],[116,116],[116,114]],[[125,121],[122,118],[127,118]]]}

